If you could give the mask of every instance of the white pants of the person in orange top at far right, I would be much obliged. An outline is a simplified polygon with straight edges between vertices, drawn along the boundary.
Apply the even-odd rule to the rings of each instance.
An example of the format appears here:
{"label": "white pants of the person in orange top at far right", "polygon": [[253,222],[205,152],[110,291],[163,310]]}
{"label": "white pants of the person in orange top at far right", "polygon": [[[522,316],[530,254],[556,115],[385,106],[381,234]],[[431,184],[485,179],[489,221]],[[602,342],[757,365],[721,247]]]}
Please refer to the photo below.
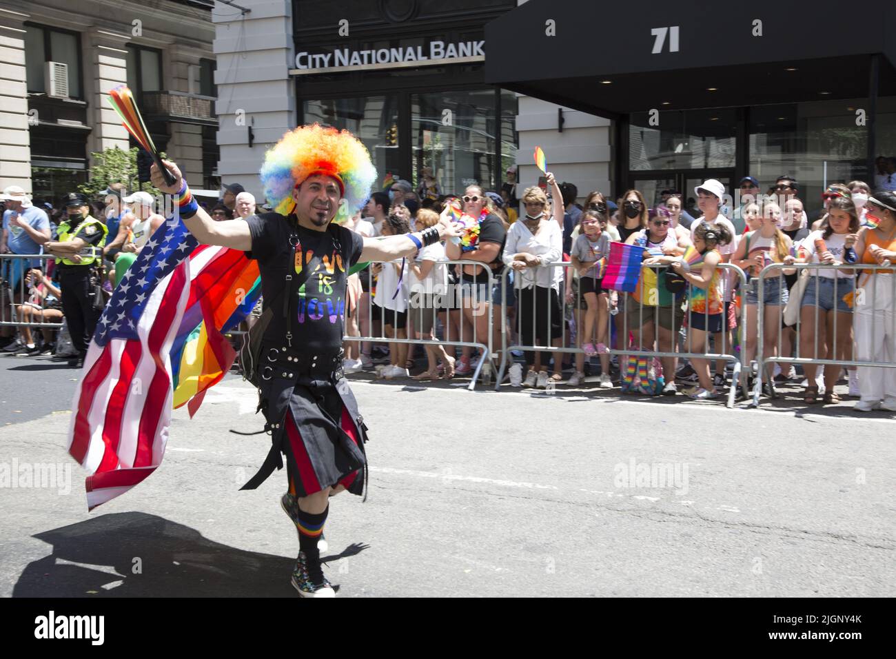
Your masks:
{"label": "white pants of the person in orange top at far right", "polygon": [[[896,364],[893,275],[874,274],[868,277],[867,282],[865,279],[863,276],[860,280],[863,284],[856,291],[857,299],[853,307],[856,359]],[[871,403],[885,397],[896,397],[896,368],[858,367],[858,389],[862,400]]]}

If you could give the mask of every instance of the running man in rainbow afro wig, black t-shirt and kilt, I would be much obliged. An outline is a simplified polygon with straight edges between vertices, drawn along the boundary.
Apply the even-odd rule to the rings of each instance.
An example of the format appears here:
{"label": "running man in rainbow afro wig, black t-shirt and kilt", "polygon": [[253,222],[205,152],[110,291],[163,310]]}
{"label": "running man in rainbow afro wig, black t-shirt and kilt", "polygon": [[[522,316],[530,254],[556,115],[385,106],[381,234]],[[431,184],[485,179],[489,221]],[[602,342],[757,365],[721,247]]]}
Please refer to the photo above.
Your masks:
{"label": "running man in rainbow afro wig, black t-shirt and kilt", "polygon": [[388,238],[363,238],[333,222],[366,202],[376,170],[358,138],[332,127],[299,126],[267,152],[260,176],[274,212],[245,220],[211,220],[177,166],[165,166],[176,183],[168,186],[155,165],[153,183],[178,195],[195,238],[258,261],[264,313],[256,325],[263,333],[256,373],[272,447],[244,489],[258,487],[286,456],[289,491],[280,505],[299,544],[291,583],[303,597],[332,597],[320,557],[329,499],[342,490],[363,494],[367,473],[366,425],[342,373],[349,269],[413,256],[458,230],[447,213],[435,227]]}

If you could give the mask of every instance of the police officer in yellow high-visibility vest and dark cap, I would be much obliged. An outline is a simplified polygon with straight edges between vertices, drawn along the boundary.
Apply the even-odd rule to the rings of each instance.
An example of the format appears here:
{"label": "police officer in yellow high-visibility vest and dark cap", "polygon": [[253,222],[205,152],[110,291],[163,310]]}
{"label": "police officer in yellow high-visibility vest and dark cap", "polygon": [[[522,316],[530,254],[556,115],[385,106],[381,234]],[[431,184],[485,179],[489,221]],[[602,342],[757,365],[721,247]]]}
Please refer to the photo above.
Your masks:
{"label": "police officer in yellow high-visibility vest and dark cap", "polygon": [[78,356],[68,361],[75,369],[82,368],[90,337],[96,329],[102,301],[94,299],[95,272],[102,265],[106,245],[106,225],[90,217],[90,204],[85,195],[71,192],[62,200],[65,209],[58,227],[58,240],[47,242],[44,249],[56,256],[56,272],[62,289],[62,308],[72,334]]}

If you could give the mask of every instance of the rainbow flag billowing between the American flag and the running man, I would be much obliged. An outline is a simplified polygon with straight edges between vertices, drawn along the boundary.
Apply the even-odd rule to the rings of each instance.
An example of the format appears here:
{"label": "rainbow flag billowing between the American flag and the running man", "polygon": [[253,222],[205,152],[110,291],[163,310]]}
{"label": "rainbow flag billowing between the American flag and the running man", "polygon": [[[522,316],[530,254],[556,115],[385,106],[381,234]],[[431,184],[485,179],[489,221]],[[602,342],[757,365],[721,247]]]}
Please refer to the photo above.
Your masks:
{"label": "rainbow flag billowing between the American flag and the running man", "polygon": [[227,247],[200,245],[190,254],[198,268],[183,319],[171,345],[174,406],[192,418],[205,392],[220,382],[237,353],[223,336],[246,319],[262,294],[258,263]]}

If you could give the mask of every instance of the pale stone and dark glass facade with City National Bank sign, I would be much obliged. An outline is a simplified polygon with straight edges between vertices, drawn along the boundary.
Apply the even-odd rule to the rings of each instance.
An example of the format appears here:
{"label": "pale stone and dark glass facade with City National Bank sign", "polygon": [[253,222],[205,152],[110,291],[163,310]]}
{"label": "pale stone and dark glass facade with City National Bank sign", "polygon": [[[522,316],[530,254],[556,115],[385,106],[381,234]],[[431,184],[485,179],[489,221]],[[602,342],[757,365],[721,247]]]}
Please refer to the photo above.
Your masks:
{"label": "pale stone and dark glass facade with City National Bank sign", "polygon": [[[243,0],[215,13],[220,173],[260,195],[264,151],[314,121],[366,144],[383,186],[431,169],[444,193],[497,190],[532,152],[584,195],[610,185],[610,122],[488,85],[484,26],[517,0]],[[223,5],[220,5],[223,6]],[[513,173],[510,175],[513,176]],[[515,182],[515,181],[514,181]]]}

